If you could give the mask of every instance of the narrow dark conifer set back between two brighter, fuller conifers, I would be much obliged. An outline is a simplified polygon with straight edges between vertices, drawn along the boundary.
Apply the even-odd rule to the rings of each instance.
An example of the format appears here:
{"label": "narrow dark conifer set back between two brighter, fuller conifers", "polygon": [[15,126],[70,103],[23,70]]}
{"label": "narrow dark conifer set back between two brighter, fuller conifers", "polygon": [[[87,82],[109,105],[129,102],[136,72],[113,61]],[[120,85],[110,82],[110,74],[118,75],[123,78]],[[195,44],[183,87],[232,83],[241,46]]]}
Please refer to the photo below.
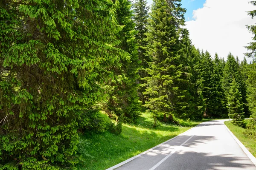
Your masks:
{"label": "narrow dark conifer set back between two brighter, fuller conifers", "polygon": [[[134,3],[134,22],[135,29],[137,30],[136,40],[139,45],[138,48],[138,57],[141,60],[140,63],[140,78],[148,77],[147,72],[145,71],[148,68],[148,62],[150,62],[149,57],[145,55],[145,33],[148,25],[148,6],[146,0],[136,0]],[[145,84],[145,80],[141,79],[140,84]],[[145,96],[143,94],[145,92],[145,87],[141,86],[139,88],[140,100],[142,104],[145,104]]]}

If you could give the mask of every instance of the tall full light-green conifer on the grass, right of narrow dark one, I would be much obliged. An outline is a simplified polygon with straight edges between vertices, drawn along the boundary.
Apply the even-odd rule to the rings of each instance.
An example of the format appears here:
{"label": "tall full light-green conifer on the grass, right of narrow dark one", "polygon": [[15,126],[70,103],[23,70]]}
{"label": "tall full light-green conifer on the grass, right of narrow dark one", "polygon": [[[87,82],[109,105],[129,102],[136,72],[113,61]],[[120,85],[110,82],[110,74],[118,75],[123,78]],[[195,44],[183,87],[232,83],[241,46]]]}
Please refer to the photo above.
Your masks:
{"label": "tall full light-green conifer on the grass, right of narrow dark one", "polygon": [[184,91],[177,86],[183,81],[180,77],[184,73],[178,34],[181,33],[180,26],[184,24],[184,18],[180,20],[176,17],[183,14],[184,10],[180,8],[179,2],[172,1],[171,6],[166,0],[154,0],[146,33],[146,53],[152,62],[147,69],[150,77],[145,77],[145,95],[148,97],[145,106],[153,113],[155,123],[158,113],[182,115],[177,113],[177,109],[184,109],[182,99],[185,96],[180,95]]}

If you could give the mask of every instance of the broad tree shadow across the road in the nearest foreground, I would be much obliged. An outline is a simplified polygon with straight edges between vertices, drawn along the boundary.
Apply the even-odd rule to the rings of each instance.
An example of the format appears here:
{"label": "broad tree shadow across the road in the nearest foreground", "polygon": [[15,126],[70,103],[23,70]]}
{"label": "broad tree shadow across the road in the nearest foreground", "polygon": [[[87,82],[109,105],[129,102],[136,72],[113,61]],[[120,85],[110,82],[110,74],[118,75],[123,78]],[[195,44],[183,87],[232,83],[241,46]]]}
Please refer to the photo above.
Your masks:
{"label": "broad tree shadow across the road in the nearest foreground", "polygon": [[[172,157],[172,158],[171,158]],[[169,165],[159,166],[164,170],[256,170],[247,157],[212,155],[209,153],[180,152],[170,157]]]}

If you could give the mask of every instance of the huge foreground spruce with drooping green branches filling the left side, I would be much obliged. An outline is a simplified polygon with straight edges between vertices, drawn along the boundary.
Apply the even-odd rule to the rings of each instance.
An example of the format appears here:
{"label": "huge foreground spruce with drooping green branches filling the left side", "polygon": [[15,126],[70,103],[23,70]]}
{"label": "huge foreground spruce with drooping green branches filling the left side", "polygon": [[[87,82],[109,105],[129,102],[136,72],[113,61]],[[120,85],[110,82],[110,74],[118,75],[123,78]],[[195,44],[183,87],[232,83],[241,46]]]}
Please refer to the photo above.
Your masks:
{"label": "huge foreground spruce with drooping green branches filling the left side", "polygon": [[114,11],[110,0],[0,1],[0,169],[78,163],[77,130],[124,53]]}

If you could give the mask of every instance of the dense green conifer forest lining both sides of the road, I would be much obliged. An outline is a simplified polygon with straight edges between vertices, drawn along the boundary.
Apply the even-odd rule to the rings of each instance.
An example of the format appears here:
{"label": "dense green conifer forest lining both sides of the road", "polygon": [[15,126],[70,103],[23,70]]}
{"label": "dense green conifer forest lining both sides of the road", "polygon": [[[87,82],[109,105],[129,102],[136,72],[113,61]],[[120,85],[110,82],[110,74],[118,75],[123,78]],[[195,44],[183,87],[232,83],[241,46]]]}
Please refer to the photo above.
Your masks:
{"label": "dense green conifer forest lining both sides of the road", "polygon": [[256,139],[256,26],[250,62],[211,56],[180,2],[1,0],[0,170],[76,169],[81,134],[118,135],[142,111],[153,127],[230,117]]}

